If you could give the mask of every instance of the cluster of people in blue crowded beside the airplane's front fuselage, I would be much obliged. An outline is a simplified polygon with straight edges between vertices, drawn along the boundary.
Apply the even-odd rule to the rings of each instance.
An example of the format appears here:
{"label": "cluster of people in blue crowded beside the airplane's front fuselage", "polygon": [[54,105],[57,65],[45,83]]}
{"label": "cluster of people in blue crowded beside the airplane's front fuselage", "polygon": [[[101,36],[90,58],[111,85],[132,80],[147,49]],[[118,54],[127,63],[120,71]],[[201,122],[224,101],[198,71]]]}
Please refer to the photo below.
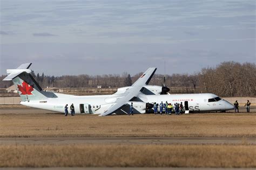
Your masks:
{"label": "cluster of people in blue crowded beside the airplane's front fuselage", "polygon": [[174,110],[176,115],[183,114],[183,104],[180,103],[174,103],[174,107],[172,103],[168,103],[167,101],[165,103],[161,102],[160,104],[154,102],[153,109],[154,114],[158,114],[158,107],[160,110],[160,115],[163,114],[163,111],[165,110],[165,114],[171,115],[172,111]]}

